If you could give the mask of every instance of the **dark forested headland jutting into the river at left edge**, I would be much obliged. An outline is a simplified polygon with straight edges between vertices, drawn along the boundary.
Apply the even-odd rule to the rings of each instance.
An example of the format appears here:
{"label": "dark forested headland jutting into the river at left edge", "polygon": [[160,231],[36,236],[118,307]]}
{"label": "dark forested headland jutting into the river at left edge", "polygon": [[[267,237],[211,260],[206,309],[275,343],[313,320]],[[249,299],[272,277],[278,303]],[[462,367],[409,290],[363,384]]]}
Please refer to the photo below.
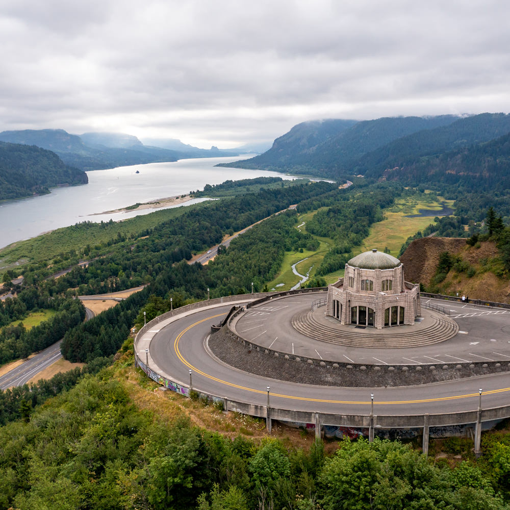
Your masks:
{"label": "dark forested headland jutting into the river at left edge", "polygon": [[50,150],[0,142],[0,200],[47,193],[61,185],[87,184],[87,174]]}

